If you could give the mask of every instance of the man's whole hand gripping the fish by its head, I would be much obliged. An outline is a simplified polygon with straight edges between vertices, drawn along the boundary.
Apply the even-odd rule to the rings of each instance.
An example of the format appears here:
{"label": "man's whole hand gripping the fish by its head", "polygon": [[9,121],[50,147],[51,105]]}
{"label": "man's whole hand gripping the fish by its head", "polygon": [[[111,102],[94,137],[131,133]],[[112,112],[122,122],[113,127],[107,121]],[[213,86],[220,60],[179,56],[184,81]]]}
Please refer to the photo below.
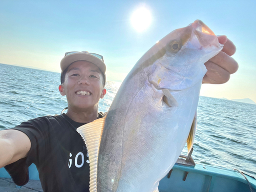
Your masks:
{"label": "man's whole hand gripping the fish by its head", "polygon": [[230,74],[238,70],[238,62],[230,57],[236,52],[236,46],[224,35],[219,36],[218,39],[224,47],[218,55],[204,63],[208,71],[203,78],[203,83],[225,83],[229,80]]}

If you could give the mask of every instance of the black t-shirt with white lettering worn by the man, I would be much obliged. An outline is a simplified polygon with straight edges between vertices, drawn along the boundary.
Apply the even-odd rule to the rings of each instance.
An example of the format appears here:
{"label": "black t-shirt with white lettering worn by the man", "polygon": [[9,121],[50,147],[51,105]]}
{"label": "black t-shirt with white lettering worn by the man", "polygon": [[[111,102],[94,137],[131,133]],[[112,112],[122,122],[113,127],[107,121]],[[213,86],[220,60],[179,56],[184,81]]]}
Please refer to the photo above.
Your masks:
{"label": "black t-shirt with white lettering worn by the man", "polygon": [[27,167],[34,163],[44,191],[89,191],[87,148],[76,132],[83,124],[62,114],[38,117],[14,127],[31,141],[28,156],[5,167],[14,182],[26,184]]}

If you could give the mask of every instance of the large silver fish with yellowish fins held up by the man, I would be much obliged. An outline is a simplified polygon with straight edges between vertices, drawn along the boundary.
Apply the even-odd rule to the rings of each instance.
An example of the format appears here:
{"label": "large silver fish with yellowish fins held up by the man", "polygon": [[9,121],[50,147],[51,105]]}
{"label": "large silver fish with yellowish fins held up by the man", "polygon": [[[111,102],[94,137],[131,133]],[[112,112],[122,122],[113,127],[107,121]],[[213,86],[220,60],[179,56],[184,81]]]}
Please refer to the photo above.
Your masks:
{"label": "large silver fish with yellowish fins held up by the man", "polygon": [[77,129],[91,192],[156,192],[194,142],[204,63],[223,48],[201,20],[159,40],[122,82],[109,111]]}

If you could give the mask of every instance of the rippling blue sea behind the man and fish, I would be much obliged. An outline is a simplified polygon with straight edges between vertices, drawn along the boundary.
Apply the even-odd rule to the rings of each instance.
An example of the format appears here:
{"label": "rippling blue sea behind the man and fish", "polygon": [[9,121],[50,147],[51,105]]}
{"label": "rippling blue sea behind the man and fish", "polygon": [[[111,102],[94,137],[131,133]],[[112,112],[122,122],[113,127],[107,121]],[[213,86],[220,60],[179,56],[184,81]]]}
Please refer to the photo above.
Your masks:
{"label": "rippling blue sea behind the man and fish", "polygon": [[[67,107],[60,73],[0,64],[0,130]],[[120,82],[106,81],[99,111],[107,112]],[[256,178],[256,105],[199,98],[192,157],[197,164],[239,169]],[[182,154],[186,154],[186,146]]]}

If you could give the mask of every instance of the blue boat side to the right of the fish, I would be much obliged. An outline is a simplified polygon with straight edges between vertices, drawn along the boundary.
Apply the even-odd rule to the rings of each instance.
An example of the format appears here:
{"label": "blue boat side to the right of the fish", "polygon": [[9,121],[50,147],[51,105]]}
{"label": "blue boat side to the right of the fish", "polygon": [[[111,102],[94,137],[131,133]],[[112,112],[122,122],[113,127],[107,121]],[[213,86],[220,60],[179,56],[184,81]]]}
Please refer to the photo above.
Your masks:
{"label": "blue boat side to the right of the fish", "polygon": [[159,192],[256,192],[256,179],[240,170],[178,161],[160,181]]}

